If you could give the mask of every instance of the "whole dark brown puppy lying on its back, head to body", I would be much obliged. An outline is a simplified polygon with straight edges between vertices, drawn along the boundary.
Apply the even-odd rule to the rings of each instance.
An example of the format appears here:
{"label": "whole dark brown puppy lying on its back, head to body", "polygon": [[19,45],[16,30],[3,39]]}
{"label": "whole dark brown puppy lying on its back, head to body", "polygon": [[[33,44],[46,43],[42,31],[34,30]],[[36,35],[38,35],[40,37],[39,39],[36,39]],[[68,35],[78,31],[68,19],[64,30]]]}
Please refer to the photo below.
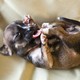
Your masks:
{"label": "whole dark brown puppy lying on its back, head to body", "polygon": [[[80,64],[79,25],[77,28],[77,24],[72,26],[73,23],[65,20],[44,24],[40,37],[34,39],[39,28],[29,16],[27,19],[16,21],[5,29],[3,54],[12,55],[14,51],[34,65],[48,69],[68,69]],[[36,47],[38,44],[40,46]]]}

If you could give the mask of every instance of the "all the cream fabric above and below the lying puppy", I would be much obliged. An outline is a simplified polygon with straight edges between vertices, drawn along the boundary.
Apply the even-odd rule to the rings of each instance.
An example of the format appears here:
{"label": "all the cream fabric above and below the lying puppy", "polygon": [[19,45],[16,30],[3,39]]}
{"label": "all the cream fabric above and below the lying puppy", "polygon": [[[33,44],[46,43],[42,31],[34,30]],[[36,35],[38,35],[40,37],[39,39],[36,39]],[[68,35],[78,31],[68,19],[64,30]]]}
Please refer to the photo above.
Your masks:
{"label": "all the cream fabric above and below the lying puppy", "polygon": [[[80,20],[79,6],[80,0],[3,0],[0,11],[8,23],[30,14],[36,22],[42,24],[53,22],[58,16]],[[70,70],[45,70],[34,67],[16,55],[0,55],[0,80],[80,80],[80,67]]]}

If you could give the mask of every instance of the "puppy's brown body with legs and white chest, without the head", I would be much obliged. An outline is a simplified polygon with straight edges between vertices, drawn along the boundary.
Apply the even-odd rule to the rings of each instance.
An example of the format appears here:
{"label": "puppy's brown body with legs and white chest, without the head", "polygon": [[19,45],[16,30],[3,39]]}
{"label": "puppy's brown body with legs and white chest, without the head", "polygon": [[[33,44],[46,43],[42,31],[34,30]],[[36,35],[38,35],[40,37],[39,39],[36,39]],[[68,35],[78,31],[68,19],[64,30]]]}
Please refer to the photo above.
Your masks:
{"label": "puppy's brown body with legs and white chest, without the head", "polygon": [[[27,56],[36,66],[47,69],[69,69],[80,65],[80,28],[79,24],[74,23],[78,21],[62,19],[53,24],[42,25],[41,47]],[[74,30],[70,30],[70,27]]]}

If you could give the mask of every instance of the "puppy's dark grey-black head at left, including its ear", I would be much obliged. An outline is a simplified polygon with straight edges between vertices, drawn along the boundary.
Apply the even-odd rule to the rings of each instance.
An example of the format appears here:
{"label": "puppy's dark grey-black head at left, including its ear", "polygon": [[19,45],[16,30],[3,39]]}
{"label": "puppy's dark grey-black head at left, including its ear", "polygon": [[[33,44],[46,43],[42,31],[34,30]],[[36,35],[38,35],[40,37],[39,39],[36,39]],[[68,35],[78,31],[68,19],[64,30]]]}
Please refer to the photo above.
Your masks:
{"label": "puppy's dark grey-black head at left, including its ear", "polygon": [[9,24],[4,30],[3,46],[1,53],[11,56],[15,52],[19,56],[24,56],[33,46],[36,45],[32,38],[39,29],[38,25],[30,16],[25,20],[16,20]]}

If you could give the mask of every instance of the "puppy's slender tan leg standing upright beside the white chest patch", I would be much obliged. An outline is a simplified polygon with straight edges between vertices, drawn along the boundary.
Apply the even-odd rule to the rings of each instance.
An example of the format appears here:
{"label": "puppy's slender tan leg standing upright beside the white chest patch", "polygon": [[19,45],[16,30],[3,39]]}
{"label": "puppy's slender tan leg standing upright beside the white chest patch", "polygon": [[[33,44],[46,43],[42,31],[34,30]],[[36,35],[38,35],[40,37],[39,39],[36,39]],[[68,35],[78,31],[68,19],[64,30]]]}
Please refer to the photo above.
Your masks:
{"label": "puppy's slender tan leg standing upright beside the white chest patch", "polygon": [[47,41],[48,40],[47,40],[46,35],[44,35],[42,33],[41,34],[41,43],[42,43],[41,49],[42,49],[42,52],[43,52],[43,58],[44,58],[45,63],[46,63],[45,65],[46,65],[47,68],[52,68],[53,58],[52,58],[50,49],[48,47]]}

